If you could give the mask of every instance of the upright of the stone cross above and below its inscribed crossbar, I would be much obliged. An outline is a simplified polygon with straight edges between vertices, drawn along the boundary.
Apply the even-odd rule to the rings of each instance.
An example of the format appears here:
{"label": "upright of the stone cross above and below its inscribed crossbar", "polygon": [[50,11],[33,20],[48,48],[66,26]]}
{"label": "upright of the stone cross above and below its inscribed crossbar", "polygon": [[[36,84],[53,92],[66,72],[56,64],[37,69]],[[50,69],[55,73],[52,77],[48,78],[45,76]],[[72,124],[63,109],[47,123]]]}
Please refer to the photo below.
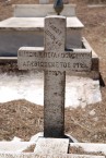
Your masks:
{"label": "upright of the stone cross above and below its inscribed crossbar", "polygon": [[[66,17],[45,19],[45,52],[59,57],[64,51]],[[51,58],[50,58],[51,59]],[[52,62],[49,59],[49,63]],[[57,63],[58,66],[58,63]],[[44,136],[64,136],[66,72],[45,71]]]}

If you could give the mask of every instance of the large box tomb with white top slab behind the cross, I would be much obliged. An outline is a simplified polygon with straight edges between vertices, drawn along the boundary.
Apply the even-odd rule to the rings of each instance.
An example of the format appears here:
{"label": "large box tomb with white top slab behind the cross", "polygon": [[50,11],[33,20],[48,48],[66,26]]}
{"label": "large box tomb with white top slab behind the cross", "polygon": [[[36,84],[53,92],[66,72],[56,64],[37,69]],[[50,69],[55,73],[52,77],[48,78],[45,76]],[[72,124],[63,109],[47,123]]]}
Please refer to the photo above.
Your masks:
{"label": "large box tomb with white top slab behind the cross", "polygon": [[[68,32],[78,29],[78,33],[74,29],[68,33],[68,46],[81,48],[79,32],[83,28],[82,23],[75,16],[68,17],[67,27]],[[0,22],[0,56],[17,56],[17,49],[22,46],[44,46],[44,17],[11,17]]]}

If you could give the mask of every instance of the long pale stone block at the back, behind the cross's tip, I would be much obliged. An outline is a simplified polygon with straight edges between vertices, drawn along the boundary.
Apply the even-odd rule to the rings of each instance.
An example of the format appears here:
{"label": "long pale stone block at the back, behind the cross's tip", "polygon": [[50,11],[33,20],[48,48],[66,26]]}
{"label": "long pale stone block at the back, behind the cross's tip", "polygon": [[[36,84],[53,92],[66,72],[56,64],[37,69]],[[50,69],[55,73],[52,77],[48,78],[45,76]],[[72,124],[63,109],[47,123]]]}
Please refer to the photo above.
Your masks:
{"label": "long pale stone block at the back, behind the cross's tip", "polygon": [[[74,4],[64,4],[61,15],[75,16],[74,8],[75,8]],[[40,10],[42,12],[39,12]],[[44,4],[15,4],[14,5],[14,16],[16,17],[45,17],[50,14],[56,14],[54,10],[54,4],[45,4],[45,5]]]}

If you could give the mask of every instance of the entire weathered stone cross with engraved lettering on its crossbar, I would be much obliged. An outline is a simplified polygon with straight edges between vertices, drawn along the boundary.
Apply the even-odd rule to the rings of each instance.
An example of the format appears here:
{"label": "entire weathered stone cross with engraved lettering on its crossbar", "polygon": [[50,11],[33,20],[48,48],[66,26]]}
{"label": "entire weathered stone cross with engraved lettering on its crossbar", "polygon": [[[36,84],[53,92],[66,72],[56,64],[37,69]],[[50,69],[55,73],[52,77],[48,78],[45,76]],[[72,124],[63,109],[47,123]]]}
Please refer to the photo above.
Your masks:
{"label": "entire weathered stone cross with engraved lettering on its crossbar", "polygon": [[44,70],[45,137],[64,137],[66,71],[91,70],[91,50],[66,49],[66,24],[64,16],[45,17],[44,48],[22,47],[17,51],[20,70]]}

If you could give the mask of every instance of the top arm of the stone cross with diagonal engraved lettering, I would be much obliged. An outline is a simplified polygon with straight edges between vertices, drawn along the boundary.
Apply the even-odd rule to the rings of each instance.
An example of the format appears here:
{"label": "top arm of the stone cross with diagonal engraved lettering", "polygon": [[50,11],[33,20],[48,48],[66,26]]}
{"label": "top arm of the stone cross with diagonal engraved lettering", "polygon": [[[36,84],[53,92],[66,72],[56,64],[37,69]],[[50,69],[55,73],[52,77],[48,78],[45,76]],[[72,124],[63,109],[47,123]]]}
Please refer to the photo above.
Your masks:
{"label": "top arm of the stone cross with diagonal engraved lettering", "polygon": [[[62,21],[63,19],[63,21]],[[57,52],[57,50],[63,50],[64,46],[62,45],[66,32],[66,22],[64,17],[62,16],[59,21],[57,21],[57,17],[55,19],[46,19],[45,23],[45,47],[46,51],[54,51]]]}

